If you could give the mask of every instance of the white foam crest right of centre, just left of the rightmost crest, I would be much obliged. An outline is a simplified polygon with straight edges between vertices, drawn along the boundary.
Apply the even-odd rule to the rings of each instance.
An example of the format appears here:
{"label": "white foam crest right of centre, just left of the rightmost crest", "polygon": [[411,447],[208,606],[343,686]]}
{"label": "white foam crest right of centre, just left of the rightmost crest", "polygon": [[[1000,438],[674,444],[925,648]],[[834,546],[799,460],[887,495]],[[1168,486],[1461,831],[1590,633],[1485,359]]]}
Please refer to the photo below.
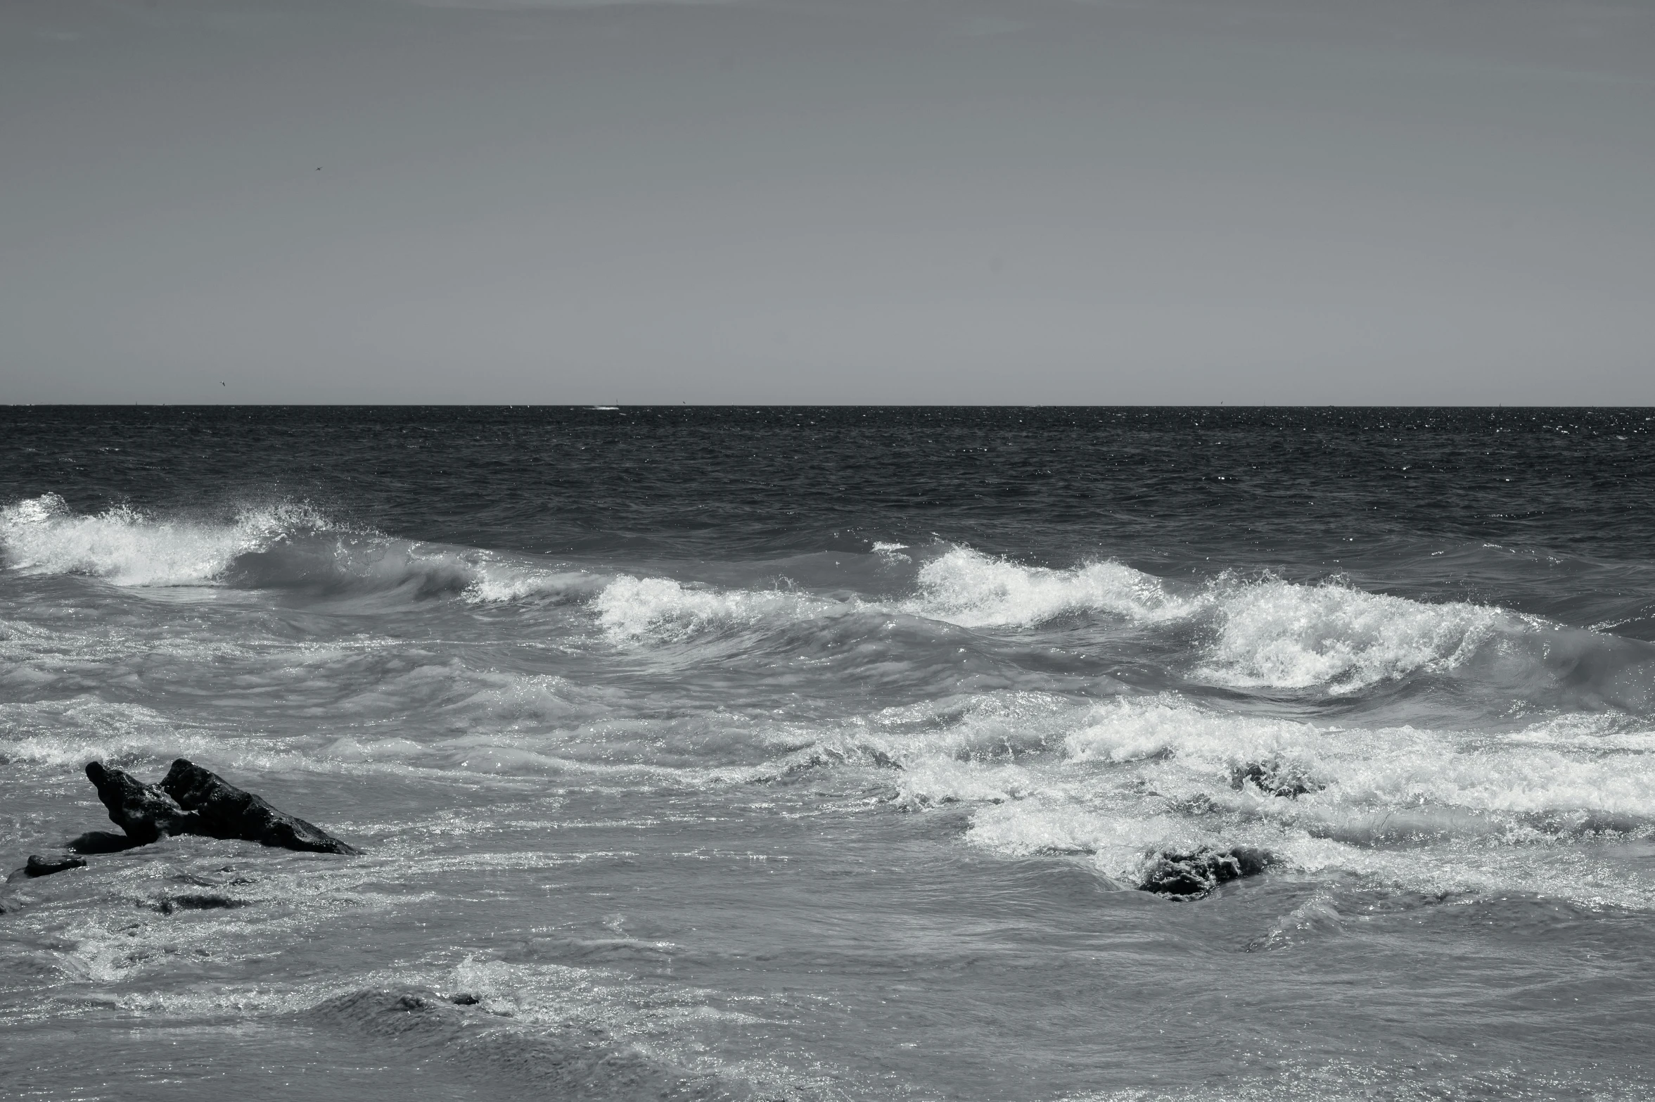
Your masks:
{"label": "white foam crest right of centre, just left of the rightmost crest", "polygon": [[962,627],[1029,627],[1074,612],[1177,620],[1198,607],[1168,592],[1160,579],[1122,563],[1049,569],[970,548],[953,548],[922,566],[919,594],[904,604],[907,612]]}

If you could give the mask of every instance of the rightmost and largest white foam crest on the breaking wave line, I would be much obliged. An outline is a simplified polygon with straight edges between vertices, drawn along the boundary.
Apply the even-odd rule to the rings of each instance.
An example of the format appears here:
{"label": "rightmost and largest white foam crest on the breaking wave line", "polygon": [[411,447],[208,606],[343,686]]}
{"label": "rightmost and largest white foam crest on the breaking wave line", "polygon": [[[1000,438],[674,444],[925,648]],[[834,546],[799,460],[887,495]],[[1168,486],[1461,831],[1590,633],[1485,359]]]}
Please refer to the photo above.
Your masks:
{"label": "rightmost and largest white foam crest on the breaking wave line", "polygon": [[1521,630],[1503,609],[1334,584],[1220,584],[1213,599],[1216,640],[1197,677],[1236,688],[1350,693],[1417,670],[1451,670],[1501,629]]}

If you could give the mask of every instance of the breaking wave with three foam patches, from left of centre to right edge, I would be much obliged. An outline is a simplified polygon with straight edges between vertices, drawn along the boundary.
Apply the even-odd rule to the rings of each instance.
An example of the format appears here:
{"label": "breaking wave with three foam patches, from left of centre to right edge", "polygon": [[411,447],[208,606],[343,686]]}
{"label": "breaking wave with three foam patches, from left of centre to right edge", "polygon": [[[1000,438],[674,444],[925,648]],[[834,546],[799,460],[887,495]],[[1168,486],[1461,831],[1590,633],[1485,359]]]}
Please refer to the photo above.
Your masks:
{"label": "breaking wave with three foam patches, from left of centre to right edge", "polygon": [[1203,586],[1122,563],[1023,566],[953,548],[925,563],[895,602],[784,589],[717,589],[622,574],[592,602],[612,639],[682,642],[730,627],[783,627],[846,612],[912,616],[980,632],[1094,616],[1139,632],[1173,630],[1183,675],[1240,690],[1347,697],[1410,677],[1473,677],[1519,695],[1567,690],[1581,707],[1642,710],[1655,649],[1496,606],[1433,604],[1349,584],[1220,576]]}

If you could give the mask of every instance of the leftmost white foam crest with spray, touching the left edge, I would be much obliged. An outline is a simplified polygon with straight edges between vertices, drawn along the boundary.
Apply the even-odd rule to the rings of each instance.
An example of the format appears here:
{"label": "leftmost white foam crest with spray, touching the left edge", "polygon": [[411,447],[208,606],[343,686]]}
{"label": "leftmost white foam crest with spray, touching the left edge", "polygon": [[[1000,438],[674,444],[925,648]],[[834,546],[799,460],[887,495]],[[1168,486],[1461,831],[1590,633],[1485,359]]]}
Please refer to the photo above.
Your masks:
{"label": "leftmost white foam crest with spray, touching the left edge", "polygon": [[89,574],[118,586],[213,582],[248,551],[296,529],[331,525],[303,505],[242,510],[230,525],[156,520],[121,505],[94,516],[70,511],[55,493],[0,510],[0,549],[33,574]]}

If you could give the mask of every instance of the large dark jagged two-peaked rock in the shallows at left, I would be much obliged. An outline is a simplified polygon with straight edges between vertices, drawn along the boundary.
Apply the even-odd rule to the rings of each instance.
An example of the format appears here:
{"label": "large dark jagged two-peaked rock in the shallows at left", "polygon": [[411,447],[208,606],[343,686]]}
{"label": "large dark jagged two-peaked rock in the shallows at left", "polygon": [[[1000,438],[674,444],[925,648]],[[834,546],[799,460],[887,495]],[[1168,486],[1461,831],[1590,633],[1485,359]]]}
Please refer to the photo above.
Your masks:
{"label": "large dark jagged two-peaked rock in the shallows at left", "polygon": [[[136,846],[146,846],[162,836],[204,834],[316,854],[361,852],[321,827],[276,811],[258,796],[243,793],[217,773],[209,773],[184,758],[172,763],[159,786],[144,784],[132,774],[104,766],[101,761],[88,763],[86,776],[109,809],[109,819],[126,831]],[[124,849],[109,842],[111,837],[108,832],[94,831],[74,842]]]}

